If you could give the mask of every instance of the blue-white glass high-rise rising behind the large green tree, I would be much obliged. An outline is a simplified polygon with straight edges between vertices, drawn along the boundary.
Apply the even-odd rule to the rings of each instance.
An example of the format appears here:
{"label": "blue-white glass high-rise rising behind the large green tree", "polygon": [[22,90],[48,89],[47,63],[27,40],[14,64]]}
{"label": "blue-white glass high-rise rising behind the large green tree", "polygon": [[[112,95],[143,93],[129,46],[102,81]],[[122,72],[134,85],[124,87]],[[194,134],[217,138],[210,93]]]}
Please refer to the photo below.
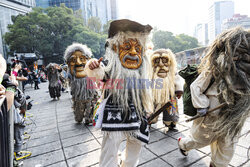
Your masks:
{"label": "blue-white glass high-rise rising behind the large green tree", "polygon": [[60,6],[64,3],[74,11],[81,9],[85,23],[99,17],[102,24],[117,19],[117,0],[36,0],[37,7]]}

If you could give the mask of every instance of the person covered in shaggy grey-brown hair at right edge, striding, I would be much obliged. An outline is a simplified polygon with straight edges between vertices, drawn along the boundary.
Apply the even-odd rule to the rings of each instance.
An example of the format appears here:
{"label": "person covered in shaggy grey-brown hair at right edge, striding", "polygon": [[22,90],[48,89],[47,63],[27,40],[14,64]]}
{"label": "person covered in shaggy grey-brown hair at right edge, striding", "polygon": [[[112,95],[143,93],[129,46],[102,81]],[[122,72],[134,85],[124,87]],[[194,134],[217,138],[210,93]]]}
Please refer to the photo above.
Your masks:
{"label": "person covered in shaggy grey-brown hair at right edge, striding", "polygon": [[[242,127],[250,114],[250,31],[240,27],[220,34],[208,48],[191,84],[192,103],[197,113],[190,135],[179,138],[183,155],[191,149],[211,146],[210,167],[227,167]],[[206,91],[212,78],[214,82]],[[220,104],[225,107],[207,113]]]}

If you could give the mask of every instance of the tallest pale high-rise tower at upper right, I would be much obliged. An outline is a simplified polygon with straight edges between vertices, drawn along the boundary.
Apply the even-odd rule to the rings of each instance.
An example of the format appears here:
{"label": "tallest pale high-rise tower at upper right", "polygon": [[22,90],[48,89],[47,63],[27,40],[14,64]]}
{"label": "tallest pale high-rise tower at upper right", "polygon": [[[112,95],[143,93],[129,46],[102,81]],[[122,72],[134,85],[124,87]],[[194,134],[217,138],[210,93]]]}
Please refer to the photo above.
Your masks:
{"label": "tallest pale high-rise tower at upper right", "polygon": [[223,20],[229,19],[234,14],[233,1],[217,1],[209,8],[208,39],[213,42],[215,37],[221,33]]}

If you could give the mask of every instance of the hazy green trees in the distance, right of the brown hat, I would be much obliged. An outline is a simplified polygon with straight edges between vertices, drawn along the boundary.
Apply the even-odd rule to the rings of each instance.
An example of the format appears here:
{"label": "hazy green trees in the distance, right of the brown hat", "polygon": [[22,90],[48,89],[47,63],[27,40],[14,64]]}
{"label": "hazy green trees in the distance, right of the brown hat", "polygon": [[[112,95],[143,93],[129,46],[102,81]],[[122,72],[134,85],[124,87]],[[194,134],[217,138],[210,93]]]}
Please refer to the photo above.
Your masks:
{"label": "hazy green trees in the distance, right of the brown hat", "polygon": [[155,49],[169,48],[173,52],[198,47],[198,40],[185,34],[174,36],[172,32],[156,30],[153,32],[153,43]]}

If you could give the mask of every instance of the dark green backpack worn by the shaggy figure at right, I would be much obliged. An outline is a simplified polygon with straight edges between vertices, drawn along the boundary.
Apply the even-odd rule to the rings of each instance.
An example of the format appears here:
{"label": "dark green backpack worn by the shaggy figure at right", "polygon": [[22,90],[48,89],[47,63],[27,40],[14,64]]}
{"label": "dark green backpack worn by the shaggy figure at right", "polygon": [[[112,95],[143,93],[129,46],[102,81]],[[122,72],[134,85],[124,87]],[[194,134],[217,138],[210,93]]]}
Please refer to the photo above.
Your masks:
{"label": "dark green backpack worn by the shaggy figure at right", "polygon": [[[179,71],[179,75],[185,80],[183,88],[183,96],[182,96],[184,105],[184,114],[188,116],[195,116],[197,114],[197,109],[194,108],[192,103],[190,85],[199,76],[198,65],[188,64],[186,68]],[[203,93],[206,93],[213,83],[214,83],[214,78],[211,79],[211,82],[209,83],[207,89]]]}

